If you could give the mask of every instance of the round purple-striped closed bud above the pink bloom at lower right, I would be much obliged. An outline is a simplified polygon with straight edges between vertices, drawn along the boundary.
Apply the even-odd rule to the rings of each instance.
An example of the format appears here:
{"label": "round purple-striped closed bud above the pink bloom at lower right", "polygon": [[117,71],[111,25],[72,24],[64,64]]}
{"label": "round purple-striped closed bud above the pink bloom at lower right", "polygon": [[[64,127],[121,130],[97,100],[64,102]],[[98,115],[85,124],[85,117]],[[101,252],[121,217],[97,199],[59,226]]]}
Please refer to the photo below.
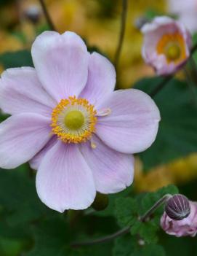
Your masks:
{"label": "round purple-striped closed bud above the pink bloom at lower right", "polygon": [[173,195],[167,201],[165,211],[172,220],[183,220],[190,214],[190,202],[185,195]]}

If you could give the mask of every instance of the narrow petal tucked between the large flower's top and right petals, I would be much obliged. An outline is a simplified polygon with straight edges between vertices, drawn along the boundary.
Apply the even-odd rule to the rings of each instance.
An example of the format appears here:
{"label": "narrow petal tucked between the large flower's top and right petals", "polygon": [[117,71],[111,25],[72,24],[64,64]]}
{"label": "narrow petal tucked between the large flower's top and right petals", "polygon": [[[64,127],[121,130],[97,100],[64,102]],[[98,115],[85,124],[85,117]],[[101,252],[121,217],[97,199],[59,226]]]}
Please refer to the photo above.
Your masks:
{"label": "narrow petal tucked between the large flower's top and right petals", "polygon": [[113,92],[115,84],[116,71],[112,63],[99,53],[92,53],[89,58],[87,85],[80,97],[97,106],[103,97]]}

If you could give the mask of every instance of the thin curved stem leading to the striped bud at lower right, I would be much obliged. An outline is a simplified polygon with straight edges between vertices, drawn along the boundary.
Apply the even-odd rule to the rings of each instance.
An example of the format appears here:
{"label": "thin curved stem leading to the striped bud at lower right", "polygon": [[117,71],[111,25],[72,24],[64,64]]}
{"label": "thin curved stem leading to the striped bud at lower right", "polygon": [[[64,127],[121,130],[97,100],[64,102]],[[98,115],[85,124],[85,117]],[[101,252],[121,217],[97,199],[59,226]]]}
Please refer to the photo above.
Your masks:
{"label": "thin curved stem leading to the striped bud at lower right", "polygon": [[[170,194],[166,194],[163,196],[163,198],[159,199],[149,210],[148,212],[146,212],[142,217],[140,217],[140,221],[141,222],[145,222],[148,221],[148,217],[150,217],[151,214],[153,214],[153,212],[156,211],[156,209],[158,209],[159,206],[161,206],[161,204],[165,203],[172,195]],[[114,238],[118,237],[118,236],[122,236],[126,233],[129,233],[130,229],[132,227],[126,227],[123,228],[121,230],[118,230],[116,233],[110,234],[108,236],[103,236],[101,238],[97,238],[95,240],[88,240],[88,241],[82,241],[82,242],[76,242],[71,244],[71,247],[82,247],[82,246],[87,246],[87,245],[93,245],[93,244],[100,244],[100,243],[105,243],[107,241],[113,240]]]}

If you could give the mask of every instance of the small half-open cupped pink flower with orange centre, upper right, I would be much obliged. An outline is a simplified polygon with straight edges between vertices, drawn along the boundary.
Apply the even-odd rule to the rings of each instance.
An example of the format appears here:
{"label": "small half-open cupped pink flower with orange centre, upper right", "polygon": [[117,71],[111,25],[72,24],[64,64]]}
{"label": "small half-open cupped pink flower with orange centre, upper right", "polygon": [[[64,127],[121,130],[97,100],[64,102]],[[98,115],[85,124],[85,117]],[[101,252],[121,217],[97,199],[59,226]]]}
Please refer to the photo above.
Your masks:
{"label": "small half-open cupped pink flower with orange centre, upper right", "polygon": [[141,28],[142,57],[158,75],[169,75],[188,61],[191,35],[182,23],[165,16],[154,18]]}

